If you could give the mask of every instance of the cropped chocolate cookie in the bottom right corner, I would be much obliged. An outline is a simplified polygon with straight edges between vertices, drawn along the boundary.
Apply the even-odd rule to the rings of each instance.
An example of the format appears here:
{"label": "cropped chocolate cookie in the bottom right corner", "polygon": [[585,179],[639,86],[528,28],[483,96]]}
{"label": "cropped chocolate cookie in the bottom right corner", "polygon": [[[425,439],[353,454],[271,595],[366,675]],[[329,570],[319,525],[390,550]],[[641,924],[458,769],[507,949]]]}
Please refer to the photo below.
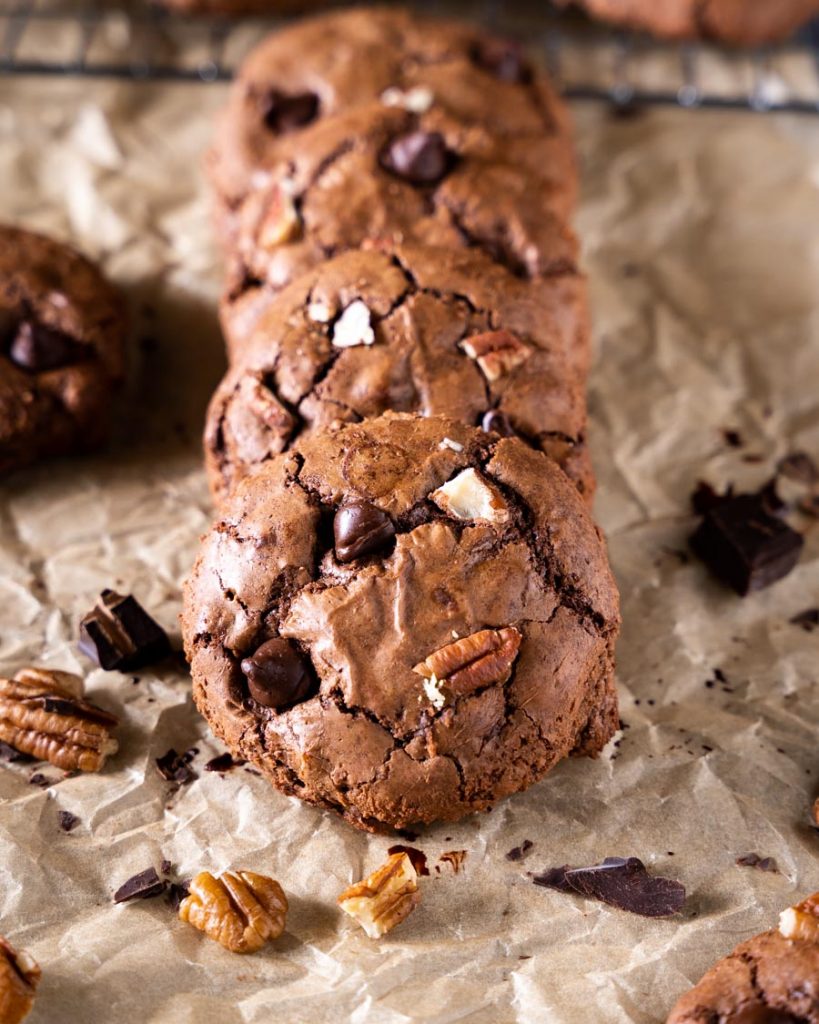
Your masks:
{"label": "cropped chocolate cookie in the bottom right corner", "polygon": [[819,1024],[819,945],[756,935],[680,998],[667,1024]]}

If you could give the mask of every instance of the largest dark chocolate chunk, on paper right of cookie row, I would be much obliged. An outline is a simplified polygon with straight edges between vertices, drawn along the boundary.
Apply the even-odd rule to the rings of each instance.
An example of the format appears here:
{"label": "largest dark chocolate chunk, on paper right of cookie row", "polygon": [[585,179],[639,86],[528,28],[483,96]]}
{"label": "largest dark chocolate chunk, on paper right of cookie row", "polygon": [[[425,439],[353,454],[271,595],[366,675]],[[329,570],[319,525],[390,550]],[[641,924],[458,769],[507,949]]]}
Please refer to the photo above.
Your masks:
{"label": "largest dark chocolate chunk, on paper right of cookie row", "polygon": [[804,543],[801,534],[771,514],[769,498],[761,495],[721,501],[691,538],[708,568],[742,596],[787,575]]}

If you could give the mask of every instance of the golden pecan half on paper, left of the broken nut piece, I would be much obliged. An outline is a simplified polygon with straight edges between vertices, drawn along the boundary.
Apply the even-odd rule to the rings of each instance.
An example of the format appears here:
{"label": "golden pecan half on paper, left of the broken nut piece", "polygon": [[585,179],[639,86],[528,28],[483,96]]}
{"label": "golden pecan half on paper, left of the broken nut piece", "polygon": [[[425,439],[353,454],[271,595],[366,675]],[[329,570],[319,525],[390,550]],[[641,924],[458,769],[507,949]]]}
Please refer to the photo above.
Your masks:
{"label": "golden pecan half on paper, left of the broken nut piece", "polygon": [[233,953],[254,953],[285,931],[288,899],[282,886],[255,871],[201,871],[179,916]]}

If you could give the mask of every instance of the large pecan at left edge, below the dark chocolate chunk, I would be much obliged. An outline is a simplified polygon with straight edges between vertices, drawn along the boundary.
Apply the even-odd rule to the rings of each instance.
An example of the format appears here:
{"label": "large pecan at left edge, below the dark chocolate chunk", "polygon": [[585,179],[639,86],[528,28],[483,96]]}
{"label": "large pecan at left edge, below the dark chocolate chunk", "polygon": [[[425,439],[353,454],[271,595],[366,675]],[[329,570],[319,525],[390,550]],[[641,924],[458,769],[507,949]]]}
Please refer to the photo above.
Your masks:
{"label": "large pecan at left edge, below the dark chocolate chunk", "polygon": [[82,697],[66,672],[24,669],[0,678],[0,740],[64,771],[99,771],[114,754],[119,720]]}

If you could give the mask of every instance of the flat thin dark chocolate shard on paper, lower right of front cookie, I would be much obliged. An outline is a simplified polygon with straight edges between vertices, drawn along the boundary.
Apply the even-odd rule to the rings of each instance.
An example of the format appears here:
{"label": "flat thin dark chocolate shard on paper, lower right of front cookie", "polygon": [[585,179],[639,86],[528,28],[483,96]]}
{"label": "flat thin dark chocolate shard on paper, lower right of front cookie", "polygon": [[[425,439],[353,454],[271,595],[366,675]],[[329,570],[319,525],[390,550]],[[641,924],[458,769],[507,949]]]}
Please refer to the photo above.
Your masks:
{"label": "flat thin dark chocolate shard on paper, lower right of front cookie", "polygon": [[532,876],[537,886],[576,892],[643,918],[669,918],[682,909],[685,887],[651,876],[637,857],[606,857],[592,867],[554,867]]}

